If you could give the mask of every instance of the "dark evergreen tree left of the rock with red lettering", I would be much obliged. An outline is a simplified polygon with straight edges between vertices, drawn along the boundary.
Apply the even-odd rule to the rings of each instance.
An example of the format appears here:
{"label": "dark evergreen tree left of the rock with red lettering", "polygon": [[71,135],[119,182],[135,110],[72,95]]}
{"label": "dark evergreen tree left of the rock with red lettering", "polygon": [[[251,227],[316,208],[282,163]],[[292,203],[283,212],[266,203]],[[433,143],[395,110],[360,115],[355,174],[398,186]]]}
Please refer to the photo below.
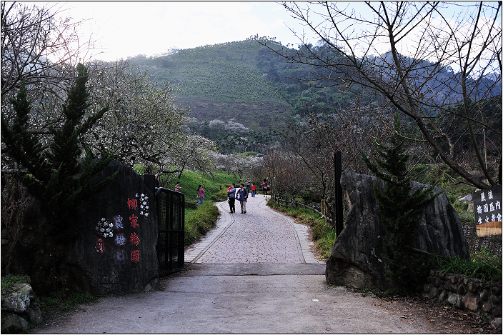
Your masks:
{"label": "dark evergreen tree left of the rock with red lettering", "polygon": [[[94,115],[84,118],[89,107],[86,89],[87,71],[84,65],[77,66],[79,76],[70,89],[66,104],[62,106],[64,122],[59,127],[49,127],[52,136],[48,149],[39,138],[28,131],[30,102],[26,87],[21,86],[16,99],[10,99],[16,116],[11,124],[1,114],[1,136],[7,155],[17,161],[27,174],[22,183],[35,199],[40,201],[44,214],[39,223],[44,247],[36,255],[35,280],[64,277],[65,247],[71,246],[84,226],[75,226],[73,217],[79,214],[84,202],[92,194],[108,185],[116,176],[91,186],[89,180],[102,171],[113,159],[113,154],[105,154],[93,159],[91,151],[79,146],[81,135],[108,110],[101,109]],[[85,150],[82,157],[82,150]],[[51,284],[51,281],[49,283]],[[53,283],[54,284],[54,283]]]}

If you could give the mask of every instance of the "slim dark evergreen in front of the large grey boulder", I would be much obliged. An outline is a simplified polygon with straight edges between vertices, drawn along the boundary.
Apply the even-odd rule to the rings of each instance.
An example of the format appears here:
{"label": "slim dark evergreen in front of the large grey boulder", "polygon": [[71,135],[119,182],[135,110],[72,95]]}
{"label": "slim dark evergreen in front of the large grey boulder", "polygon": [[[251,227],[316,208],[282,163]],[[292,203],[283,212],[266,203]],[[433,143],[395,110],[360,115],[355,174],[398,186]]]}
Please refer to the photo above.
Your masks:
{"label": "slim dark evergreen in front of the large grey boulder", "polygon": [[376,164],[363,155],[367,167],[385,181],[385,189],[374,184],[381,222],[387,234],[383,239],[383,259],[389,266],[391,278],[402,289],[414,289],[427,269],[424,257],[414,257],[414,234],[422,211],[435,196],[429,194],[434,186],[412,191],[411,179],[407,176],[409,155],[403,147],[404,139],[399,133],[400,121],[394,114],[394,133],[390,146],[377,142]]}

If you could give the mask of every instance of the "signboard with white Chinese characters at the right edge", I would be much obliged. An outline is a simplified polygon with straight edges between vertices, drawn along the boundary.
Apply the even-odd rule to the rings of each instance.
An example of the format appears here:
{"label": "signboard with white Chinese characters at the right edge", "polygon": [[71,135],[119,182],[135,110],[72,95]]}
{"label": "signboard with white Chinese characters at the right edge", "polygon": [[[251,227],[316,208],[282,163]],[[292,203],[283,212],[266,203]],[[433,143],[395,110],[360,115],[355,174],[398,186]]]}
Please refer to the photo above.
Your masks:
{"label": "signboard with white Chinese characters at the right edge", "polygon": [[477,236],[502,234],[502,186],[477,191],[473,197]]}

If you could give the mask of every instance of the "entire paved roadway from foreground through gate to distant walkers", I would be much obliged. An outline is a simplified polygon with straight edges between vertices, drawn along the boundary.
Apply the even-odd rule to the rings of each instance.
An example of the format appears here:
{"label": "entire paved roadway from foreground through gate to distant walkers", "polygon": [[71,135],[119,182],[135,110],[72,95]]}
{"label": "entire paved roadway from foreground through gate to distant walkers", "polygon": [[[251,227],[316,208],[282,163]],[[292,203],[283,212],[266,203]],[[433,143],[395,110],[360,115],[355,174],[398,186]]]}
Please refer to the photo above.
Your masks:
{"label": "entire paved roadway from foreground through gate to distant walkers", "polygon": [[[249,198],[185,253],[161,291],[106,296],[46,320],[36,333],[474,333],[438,311],[327,285],[309,228]],[[442,311],[442,306],[437,306]],[[432,314],[433,313],[433,314]],[[450,314],[449,314],[450,315]],[[453,314],[454,315],[454,314]],[[466,315],[466,314],[463,314]],[[458,315],[454,315],[454,319]],[[454,327],[454,329],[451,329]]]}

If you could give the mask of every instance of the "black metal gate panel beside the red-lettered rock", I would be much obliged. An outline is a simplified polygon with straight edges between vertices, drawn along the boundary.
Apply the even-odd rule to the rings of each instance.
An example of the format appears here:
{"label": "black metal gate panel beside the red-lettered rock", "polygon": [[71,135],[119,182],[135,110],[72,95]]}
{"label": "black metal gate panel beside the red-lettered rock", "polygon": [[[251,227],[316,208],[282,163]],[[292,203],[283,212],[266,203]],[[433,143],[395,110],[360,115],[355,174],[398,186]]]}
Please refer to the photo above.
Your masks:
{"label": "black metal gate panel beside the red-lettered rock", "polygon": [[157,189],[157,259],[159,276],[184,267],[185,196],[170,189]]}

